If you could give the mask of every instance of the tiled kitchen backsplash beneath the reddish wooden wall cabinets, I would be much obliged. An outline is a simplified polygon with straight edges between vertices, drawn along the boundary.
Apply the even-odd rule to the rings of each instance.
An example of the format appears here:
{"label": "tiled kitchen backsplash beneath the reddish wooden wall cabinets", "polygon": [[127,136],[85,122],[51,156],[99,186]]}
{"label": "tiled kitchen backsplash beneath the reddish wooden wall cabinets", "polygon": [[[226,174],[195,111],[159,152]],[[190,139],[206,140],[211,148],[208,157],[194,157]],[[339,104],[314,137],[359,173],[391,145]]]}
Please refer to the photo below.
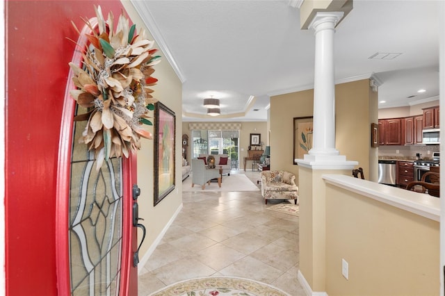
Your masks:
{"label": "tiled kitchen backsplash beneath the reddish wooden wall cabinets", "polygon": [[432,158],[432,152],[439,152],[440,145],[407,145],[393,146],[385,145],[378,147],[378,156],[393,156],[396,158],[416,158],[416,154],[421,154],[421,158]]}

